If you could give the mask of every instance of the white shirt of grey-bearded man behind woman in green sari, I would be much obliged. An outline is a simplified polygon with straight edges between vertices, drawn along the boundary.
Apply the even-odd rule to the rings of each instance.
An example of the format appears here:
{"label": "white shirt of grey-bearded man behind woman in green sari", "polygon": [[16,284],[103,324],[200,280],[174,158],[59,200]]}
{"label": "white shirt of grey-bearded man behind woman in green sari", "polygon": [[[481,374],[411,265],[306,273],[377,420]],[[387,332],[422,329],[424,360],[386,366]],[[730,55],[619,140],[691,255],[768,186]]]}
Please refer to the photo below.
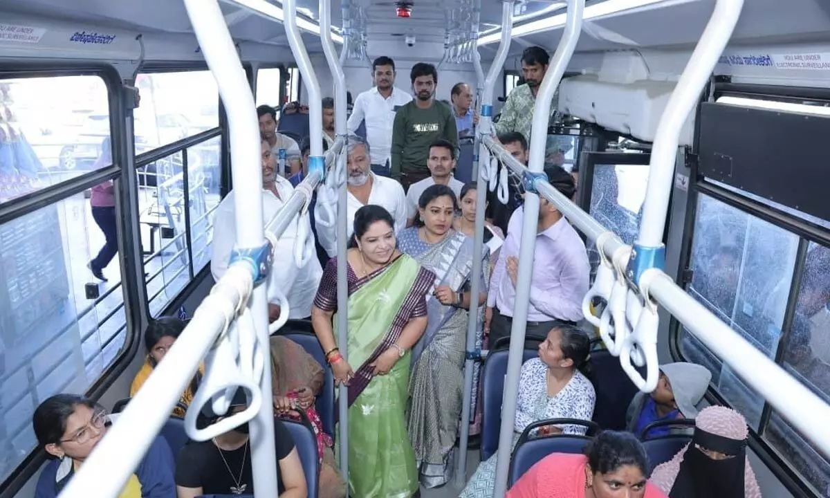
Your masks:
{"label": "white shirt of grey-bearded man behind woman in green sari", "polygon": [[[407,207],[406,196],[403,195],[403,187],[397,180],[378,176],[374,173],[369,173],[372,178],[372,190],[369,192],[369,204],[377,204],[384,207],[395,220],[395,233],[407,226]],[[321,189],[320,192],[323,192]],[[317,193],[317,205],[315,206],[315,217],[317,227],[317,241],[320,242],[320,247],[323,247],[325,252],[334,257],[337,254],[337,226],[324,227],[320,223],[320,212],[325,207],[322,203],[328,201],[324,196]],[[347,237],[352,237],[354,232],[354,213],[358,211],[364,204],[358,198],[354,197],[352,193],[348,193],[348,209],[346,210],[346,227]],[[336,201],[335,201],[336,202]],[[336,207],[333,212],[337,212]]]}

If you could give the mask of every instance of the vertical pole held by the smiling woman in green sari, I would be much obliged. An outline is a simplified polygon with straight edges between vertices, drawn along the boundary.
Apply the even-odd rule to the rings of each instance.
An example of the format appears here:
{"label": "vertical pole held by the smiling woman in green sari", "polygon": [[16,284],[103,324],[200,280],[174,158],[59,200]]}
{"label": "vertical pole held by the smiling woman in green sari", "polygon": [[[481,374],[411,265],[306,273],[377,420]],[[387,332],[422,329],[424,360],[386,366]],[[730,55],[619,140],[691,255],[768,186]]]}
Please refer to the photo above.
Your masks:
{"label": "vertical pole held by the smiling woman in green sari", "polygon": [[[344,20],[345,22],[345,20]],[[348,38],[347,38],[348,40]],[[320,42],[325,52],[325,60],[329,63],[329,70],[334,79],[334,133],[343,137],[346,143],[340,154],[337,156],[336,164],[332,171],[338,175],[333,184],[338,186],[337,193],[337,345],[344,361],[349,361],[349,354],[346,348],[348,342],[347,332],[349,325],[348,300],[349,284],[346,272],[346,244],[347,237],[347,211],[349,198],[346,191],[346,154],[349,154],[348,131],[346,129],[346,76],[343,66],[340,63],[337,52],[334,51],[334,42],[331,41],[331,0],[320,0]],[[346,53],[346,47],[343,52]],[[340,448],[340,472],[344,479],[349,481],[349,405],[348,388],[344,385],[339,387],[338,409],[339,409],[339,448]],[[349,486],[346,486],[348,496]]]}

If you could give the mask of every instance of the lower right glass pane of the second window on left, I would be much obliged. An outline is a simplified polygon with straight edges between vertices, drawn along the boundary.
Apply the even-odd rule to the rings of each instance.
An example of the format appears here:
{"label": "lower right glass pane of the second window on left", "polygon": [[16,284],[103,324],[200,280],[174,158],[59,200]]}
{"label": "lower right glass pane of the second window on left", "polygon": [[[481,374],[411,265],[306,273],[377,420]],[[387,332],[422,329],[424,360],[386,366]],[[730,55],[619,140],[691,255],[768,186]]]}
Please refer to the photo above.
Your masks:
{"label": "lower right glass pane of the second window on left", "polygon": [[193,272],[210,262],[213,240],[213,212],[221,193],[222,139],[216,137],[188,149],[188,197],[190,203],[190,243]]}

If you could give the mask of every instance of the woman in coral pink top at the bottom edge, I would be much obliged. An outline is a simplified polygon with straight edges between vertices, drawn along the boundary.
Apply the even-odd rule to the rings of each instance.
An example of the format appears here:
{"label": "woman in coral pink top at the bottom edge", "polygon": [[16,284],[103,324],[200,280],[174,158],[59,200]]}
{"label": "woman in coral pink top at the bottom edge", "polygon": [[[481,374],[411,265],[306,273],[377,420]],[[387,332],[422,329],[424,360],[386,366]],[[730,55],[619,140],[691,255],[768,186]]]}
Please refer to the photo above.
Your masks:
{"label": "woman in coral pink top at the bottom edge", "polygon": [[646,452],[630,432],[601,432],[585,455],[552,453],[507,498],[666,498],[647,481]]}

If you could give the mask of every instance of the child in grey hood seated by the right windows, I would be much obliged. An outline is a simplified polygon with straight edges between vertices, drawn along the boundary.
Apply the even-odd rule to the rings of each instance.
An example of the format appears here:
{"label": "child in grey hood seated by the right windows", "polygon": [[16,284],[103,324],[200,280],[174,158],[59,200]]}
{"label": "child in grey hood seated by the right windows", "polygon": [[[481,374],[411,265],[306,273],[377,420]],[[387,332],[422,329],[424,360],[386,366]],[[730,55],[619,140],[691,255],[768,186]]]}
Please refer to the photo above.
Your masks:
{"label": "child in grey hood seated by the right windows", "polygon": [[[626,428],[640,435],[653,422],[697,416],[697,403],[701,403],[712,374],[698,364],[677,362],[660,366],[657,388],[650,394],[637,393],[628,405]],[[682,431],[682,430],[681,430]],[[647,437],[665,436],[671,427],[651,429]]]}

